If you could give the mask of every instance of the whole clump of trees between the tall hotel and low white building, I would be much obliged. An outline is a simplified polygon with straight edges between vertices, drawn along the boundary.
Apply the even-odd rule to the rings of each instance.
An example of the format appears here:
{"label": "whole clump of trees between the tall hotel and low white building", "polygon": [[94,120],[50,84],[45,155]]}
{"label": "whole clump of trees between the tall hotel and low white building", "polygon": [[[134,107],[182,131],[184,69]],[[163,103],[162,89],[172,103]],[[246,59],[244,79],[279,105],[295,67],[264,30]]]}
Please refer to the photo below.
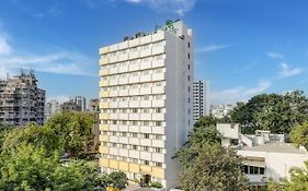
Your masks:
{"label": "whole clump of trees between the tall hotel and low white building", "polygon": [[184,147],[176,153],[184,191],[244,191],[248,180],[241,171],[241,158],[220,145],[216,120],[202,118],[190,133]]}

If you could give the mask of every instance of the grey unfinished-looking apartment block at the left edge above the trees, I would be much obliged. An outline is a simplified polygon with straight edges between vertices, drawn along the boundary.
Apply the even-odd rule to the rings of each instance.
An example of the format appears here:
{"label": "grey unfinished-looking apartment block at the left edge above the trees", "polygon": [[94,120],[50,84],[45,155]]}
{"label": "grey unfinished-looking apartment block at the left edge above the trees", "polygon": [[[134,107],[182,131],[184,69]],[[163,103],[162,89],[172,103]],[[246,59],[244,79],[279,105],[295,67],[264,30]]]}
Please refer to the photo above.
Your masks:
{"label": "grey unfinished-looking apartment block at the left edge above the trees", "polygon": [[44,123],[45,91],[37,87],[34,73],[0,81],[0,123],[24,126],[27,122]]}

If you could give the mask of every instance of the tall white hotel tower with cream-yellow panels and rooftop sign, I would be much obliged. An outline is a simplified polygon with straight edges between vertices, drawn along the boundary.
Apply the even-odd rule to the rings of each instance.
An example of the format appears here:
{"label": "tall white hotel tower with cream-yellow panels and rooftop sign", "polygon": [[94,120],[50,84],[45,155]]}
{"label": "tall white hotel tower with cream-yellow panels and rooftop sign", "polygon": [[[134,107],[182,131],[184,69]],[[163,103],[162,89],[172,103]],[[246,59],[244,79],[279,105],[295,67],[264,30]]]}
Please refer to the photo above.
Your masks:
{"label": "tall white hotel tower with cream-yellow panels and rooftop sign", "polygon": [[193,31],[168,21],[100,49],[100,166],[176,186],[174,153],[193,128]]}

